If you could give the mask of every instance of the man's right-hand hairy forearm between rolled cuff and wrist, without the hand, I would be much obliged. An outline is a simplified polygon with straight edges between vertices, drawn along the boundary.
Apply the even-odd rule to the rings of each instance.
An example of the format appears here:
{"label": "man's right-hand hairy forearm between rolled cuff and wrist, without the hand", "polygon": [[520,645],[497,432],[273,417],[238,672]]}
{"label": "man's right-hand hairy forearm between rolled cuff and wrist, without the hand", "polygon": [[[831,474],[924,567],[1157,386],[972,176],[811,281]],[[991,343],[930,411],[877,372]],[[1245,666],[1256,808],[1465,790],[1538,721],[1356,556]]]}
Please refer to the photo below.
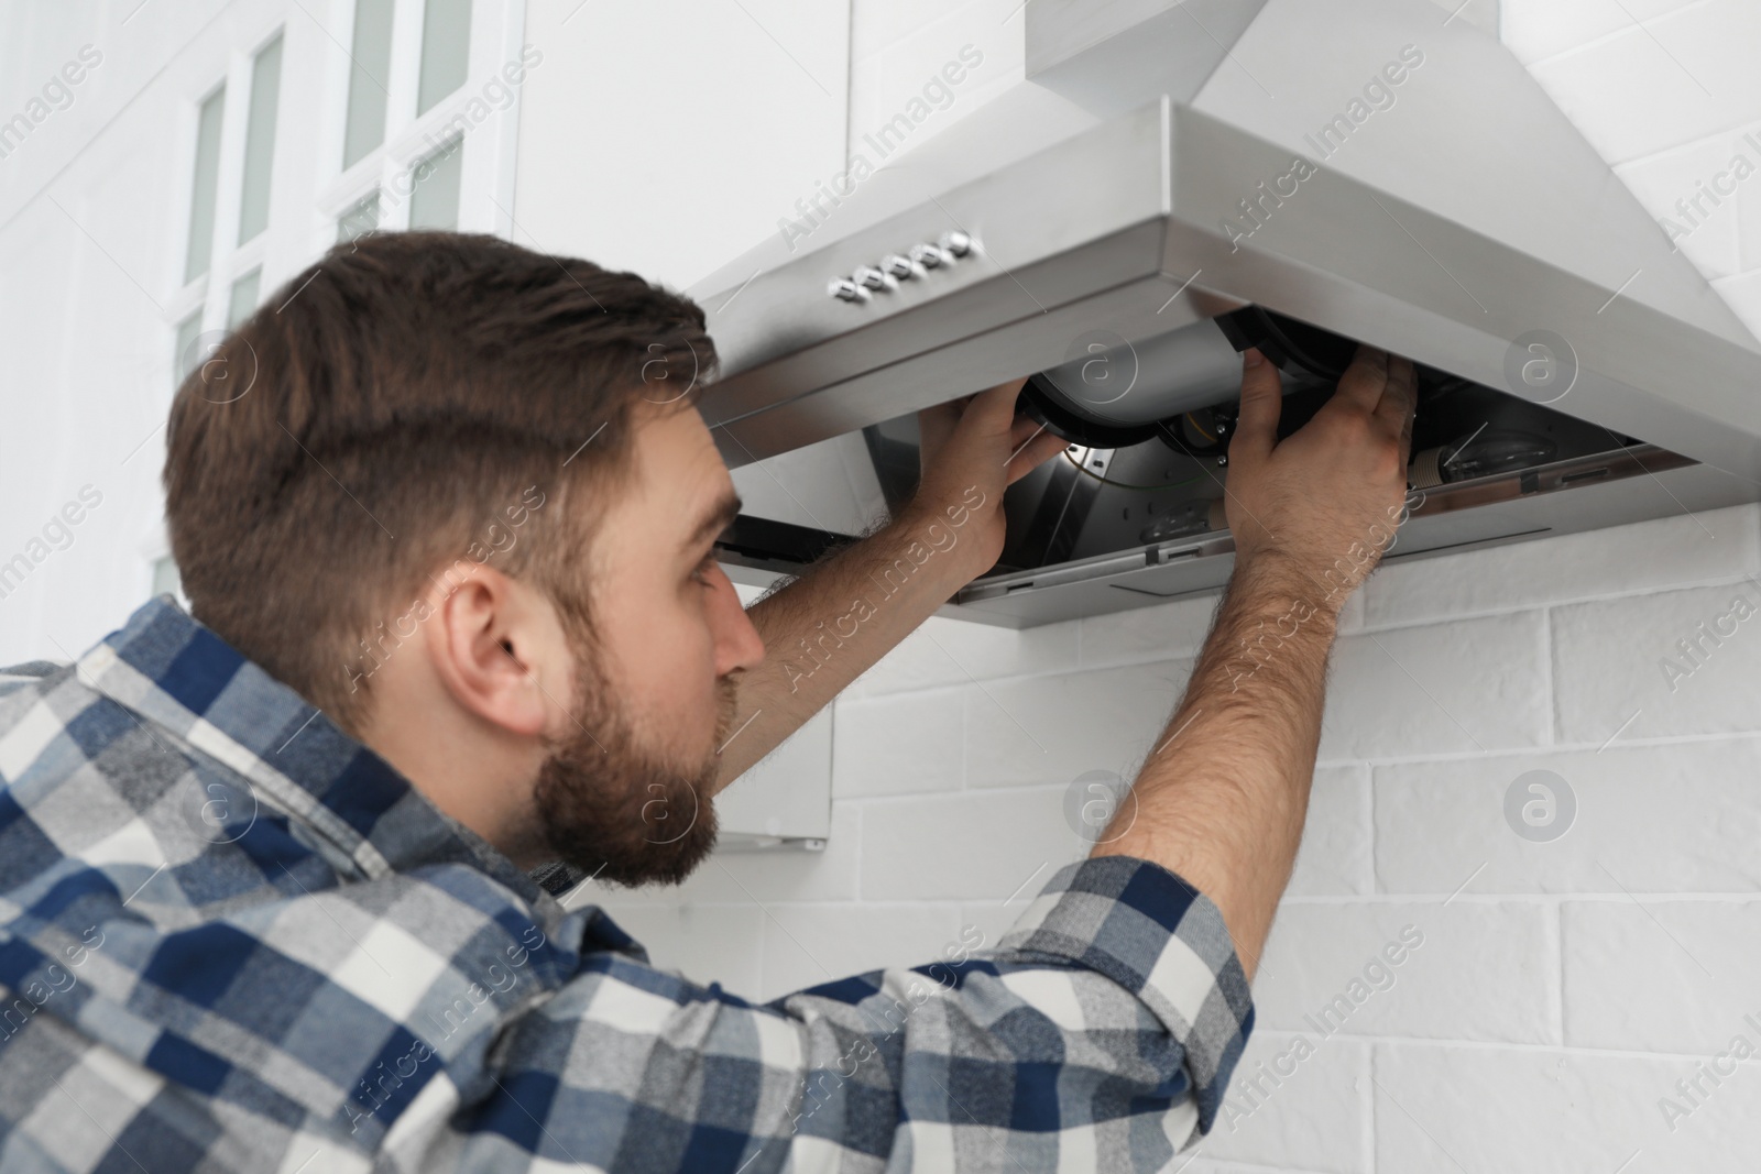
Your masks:
{"label": "man's right-hand hairy forearm between rolled cuff and wrist, without the hand", "polygon": [[1337,597],[1275,560],[1236,565],[1185,697],[1094,855],[1178,873],[1222,910],[1252,975],[1308,810]]}

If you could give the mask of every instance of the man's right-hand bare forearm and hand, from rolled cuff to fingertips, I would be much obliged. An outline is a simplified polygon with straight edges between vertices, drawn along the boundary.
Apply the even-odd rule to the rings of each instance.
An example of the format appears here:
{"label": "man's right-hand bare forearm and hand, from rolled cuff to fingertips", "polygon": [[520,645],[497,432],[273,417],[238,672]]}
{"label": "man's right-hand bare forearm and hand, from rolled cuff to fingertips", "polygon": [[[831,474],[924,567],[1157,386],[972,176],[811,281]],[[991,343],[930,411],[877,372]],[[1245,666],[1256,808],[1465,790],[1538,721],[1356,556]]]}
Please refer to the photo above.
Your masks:
{"label": "man's right-hand bare forearm and hand, from rolled cuff to fingertips", "polygon": [[1381,556],[1377,526],[1400,521],[1414,403],[1412,364],[1365,349],[1278,442],[1278,371],[1257,357],[1243,359],[1229,444],[1234,574],[1185,697],[1094,852],[1155,861],[1210,898],[1249,977],[1308,811],[1338,607]]}

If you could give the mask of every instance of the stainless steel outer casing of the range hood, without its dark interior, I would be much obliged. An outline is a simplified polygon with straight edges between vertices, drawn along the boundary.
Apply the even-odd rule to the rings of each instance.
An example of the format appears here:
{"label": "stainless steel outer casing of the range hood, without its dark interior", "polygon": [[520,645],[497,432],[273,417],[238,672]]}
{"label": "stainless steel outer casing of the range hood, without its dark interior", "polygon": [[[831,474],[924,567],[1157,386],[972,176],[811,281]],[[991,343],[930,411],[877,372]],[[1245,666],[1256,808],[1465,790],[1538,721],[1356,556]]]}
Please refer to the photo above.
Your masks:
{"label": "stainless steel outer casing of the range hood, without its dark interior", "polygon": [[1426,0],[1023,18],[1027,81],[891,165],[852,143],[692,289],[731,466],[1261,306],[1516,394],[1546,340],[1550,410],[1761,484],[1761,347],[1493,37]]}

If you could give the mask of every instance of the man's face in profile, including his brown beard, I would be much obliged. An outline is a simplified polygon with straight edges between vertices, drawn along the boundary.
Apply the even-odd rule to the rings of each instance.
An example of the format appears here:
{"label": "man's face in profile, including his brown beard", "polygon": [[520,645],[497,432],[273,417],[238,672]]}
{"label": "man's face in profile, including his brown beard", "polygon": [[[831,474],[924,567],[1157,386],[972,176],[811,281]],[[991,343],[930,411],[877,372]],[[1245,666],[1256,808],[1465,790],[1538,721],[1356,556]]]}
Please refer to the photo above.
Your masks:
{"label": "man's face in profile, including his brown beard", "polygon": [[764,657],[711,556],[736,512],[697,412],[643,407],[593,539],[593,630],[569,635],[572,722],[535,789],[549,847],[601,880],[676,884],[715,845],[734,681]]}

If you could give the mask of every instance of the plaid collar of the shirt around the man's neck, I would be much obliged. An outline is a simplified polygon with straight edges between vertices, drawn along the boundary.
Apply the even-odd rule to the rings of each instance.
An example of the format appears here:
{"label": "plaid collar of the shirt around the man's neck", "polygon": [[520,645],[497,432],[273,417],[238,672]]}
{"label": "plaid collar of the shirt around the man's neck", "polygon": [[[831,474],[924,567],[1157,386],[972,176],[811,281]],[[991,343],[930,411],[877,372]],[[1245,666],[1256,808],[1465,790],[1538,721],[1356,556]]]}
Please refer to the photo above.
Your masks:
{"label": "plaid collar of the shirt around the man's neck", "polygon": [[243,776],[259,810],[305,824],[361,878],[463,862],[525,901],[555,898],[321,709],[245,658],[171,595],[86,651],[79,679],[118,702],[157,743],[217,759]]}

